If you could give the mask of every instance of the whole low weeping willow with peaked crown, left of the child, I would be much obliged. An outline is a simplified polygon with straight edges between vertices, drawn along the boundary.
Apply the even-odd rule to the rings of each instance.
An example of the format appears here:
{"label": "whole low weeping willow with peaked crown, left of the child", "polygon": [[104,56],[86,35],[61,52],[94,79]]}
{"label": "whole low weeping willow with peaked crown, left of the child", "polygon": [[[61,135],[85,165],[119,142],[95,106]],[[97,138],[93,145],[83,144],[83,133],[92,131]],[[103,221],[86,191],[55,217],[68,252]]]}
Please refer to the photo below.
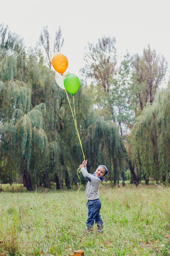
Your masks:
{"label": "whole low weeping willow with peaked crown, left of the child", "polygon": [[57,179],[56,167],[60,157],[60,144],[57,140],[48,141],[43,129],[43,112],[45,111],[46,106],[41,103],[16,123],[16,141],[20,152],[21,170],[28,190],[32,190],[32,184],[39,186],[43,183],[45,187],[51,187],[51,176],[54,174]]}

